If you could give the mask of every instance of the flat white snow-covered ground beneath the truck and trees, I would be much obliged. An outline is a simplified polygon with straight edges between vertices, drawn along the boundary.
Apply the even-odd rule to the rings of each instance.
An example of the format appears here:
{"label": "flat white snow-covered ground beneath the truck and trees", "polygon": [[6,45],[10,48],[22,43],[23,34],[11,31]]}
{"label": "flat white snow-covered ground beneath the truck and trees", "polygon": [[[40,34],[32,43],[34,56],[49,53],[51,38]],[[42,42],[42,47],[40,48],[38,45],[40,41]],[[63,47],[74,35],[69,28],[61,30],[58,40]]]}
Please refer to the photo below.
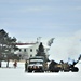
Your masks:
{"label": "flat white snow-covered ground beneath the truck and trees", "polygon": [[17,63],[17,68],[13,67],[13,63],[10,62],[11,68],[4,68],[5,62],[2,62],[0,68],[0,81],[81,81],[81,63],[79,72],[58,72],[58,73],[27,73],[24,70],[24,63]]}

